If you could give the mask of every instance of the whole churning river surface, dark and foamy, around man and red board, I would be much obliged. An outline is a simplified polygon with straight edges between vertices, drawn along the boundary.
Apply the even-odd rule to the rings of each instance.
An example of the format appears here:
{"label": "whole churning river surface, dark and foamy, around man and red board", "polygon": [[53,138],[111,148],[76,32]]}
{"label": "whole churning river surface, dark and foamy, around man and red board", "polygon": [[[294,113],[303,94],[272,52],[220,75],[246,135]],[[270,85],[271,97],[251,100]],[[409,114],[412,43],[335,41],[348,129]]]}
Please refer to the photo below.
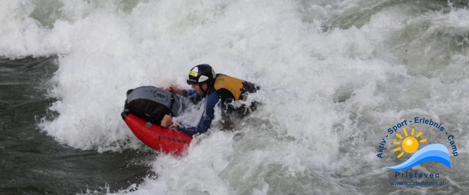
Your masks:
{"label": "whole churning river surface, dark and foamy, around man and red board", "polygon": [[[467,194],[466,6],[1,0],[0,192]],[[187,156],[156,156],[120,117],[125,92],[188,87],[187,73],[200,63],[262,86],[249,98],[263,105],[234,132],[220,131],[215,118]],[[196,123],[200,114],[177,119]],[[457,146],[450,169],[430,162],[407,170],[439,178],[396,178],[385,168],[402,162],[387,129],[415,117],[446,129],[406,126],[423,132],[422,146],[441,143],[450,154]],[[41,178],[52,179],[34,181]],[[445,184],[390,185],[398,180]]]}

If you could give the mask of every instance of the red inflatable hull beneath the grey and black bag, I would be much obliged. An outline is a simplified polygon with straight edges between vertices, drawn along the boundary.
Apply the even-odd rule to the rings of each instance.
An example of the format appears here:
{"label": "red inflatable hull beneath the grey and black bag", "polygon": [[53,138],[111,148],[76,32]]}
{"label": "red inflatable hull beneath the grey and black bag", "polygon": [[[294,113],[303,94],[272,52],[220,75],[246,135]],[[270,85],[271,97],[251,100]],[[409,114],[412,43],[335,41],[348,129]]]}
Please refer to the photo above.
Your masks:
{"label": "red inflatable hull beneath the grey and black bag", "polygon": [[149,123],[130,113],[123,112],[122,118],[135,136],[159,152],[180,156],[192,141],[187,134]]}

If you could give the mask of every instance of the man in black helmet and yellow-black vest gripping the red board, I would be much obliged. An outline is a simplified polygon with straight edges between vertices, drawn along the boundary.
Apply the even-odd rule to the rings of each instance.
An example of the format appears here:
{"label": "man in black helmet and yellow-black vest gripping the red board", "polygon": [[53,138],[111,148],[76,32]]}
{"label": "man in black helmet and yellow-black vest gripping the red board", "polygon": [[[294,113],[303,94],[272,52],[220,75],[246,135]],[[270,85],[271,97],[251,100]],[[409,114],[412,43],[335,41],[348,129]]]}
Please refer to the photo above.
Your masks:
{"label": "man in black helmet and yellow-black vest gripping the red board", "polygon": [[234,101],[244,101],[249,93],[255,93],[260,89],[259,86],[238,78],[233,78],[223,74],[216,74],[213,68],[208,64],[199,64],[191,69],[187,84],[192,89],[179,89],[170,85],[167,90],[173,94],[178,94],[189,98],[193,103],[206,99],[205,109],[197,126],[187,126],[176,124],[172,121],[170,115],[166,115],[161,120],[161,126],[184,132],[190,136],[206,132],[214,117],[215,105],[220,101],[222,116],[245,116],[256,109],[256,101],[251,105],[235,106]]}

